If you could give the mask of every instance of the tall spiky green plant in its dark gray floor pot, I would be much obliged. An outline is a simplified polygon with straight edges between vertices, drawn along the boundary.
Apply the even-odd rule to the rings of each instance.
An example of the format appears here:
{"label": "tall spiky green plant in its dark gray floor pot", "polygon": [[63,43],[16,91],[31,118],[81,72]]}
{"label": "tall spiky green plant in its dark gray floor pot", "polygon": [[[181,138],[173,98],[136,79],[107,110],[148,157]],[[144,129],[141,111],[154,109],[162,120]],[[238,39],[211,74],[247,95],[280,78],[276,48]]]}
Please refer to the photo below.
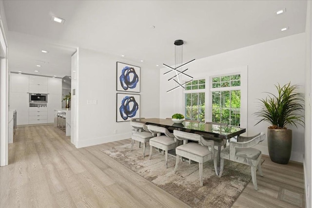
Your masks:
{"label": "tall spiky green plant in its dark gray floor pot", "polygon": [[261,121],[267,121],[272,126],[268,127],[268,149],[270,159],[274,163],[287,164],[292,153],[292,130],[286,125],[297,124],[304,127],[304,94],[296,92],[298,85],[289,82],[284,86],[275,85],[277,95],[268,93],[266,98],[259,99],[260,108],[254,113]]}

